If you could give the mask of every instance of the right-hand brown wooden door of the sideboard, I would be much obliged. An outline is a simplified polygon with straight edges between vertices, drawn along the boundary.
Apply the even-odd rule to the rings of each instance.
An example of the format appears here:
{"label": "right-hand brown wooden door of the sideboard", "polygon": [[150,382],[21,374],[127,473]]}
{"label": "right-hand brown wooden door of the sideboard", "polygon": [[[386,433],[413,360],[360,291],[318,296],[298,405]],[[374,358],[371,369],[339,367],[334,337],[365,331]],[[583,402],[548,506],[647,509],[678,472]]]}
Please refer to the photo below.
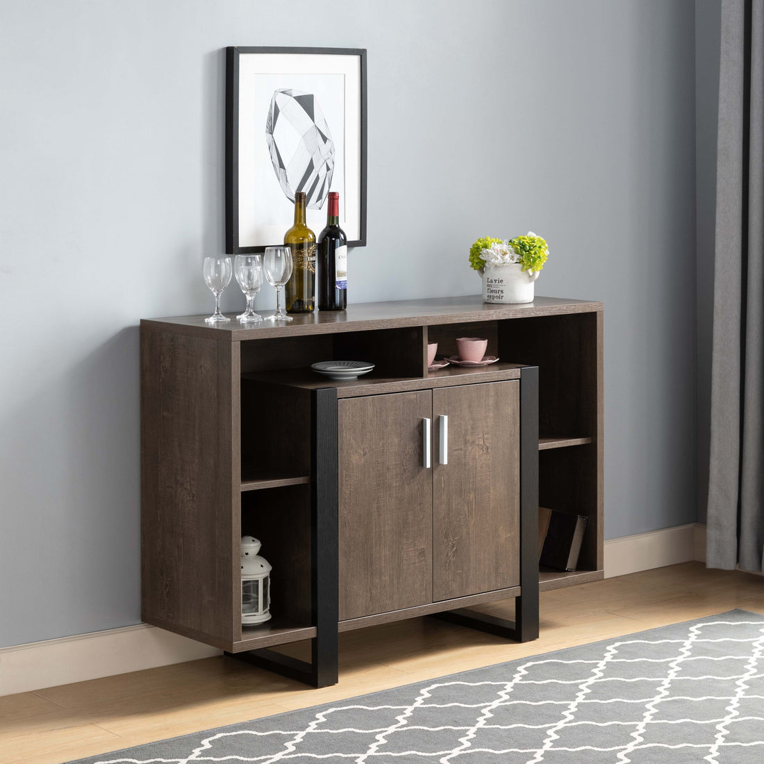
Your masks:
{"label": "right-hand brown wooden door of the sideboard", "polygon": [[[520,383],[432,391],[433,599],[520,584]],[[439,463],[440,416],[448,463]]]}

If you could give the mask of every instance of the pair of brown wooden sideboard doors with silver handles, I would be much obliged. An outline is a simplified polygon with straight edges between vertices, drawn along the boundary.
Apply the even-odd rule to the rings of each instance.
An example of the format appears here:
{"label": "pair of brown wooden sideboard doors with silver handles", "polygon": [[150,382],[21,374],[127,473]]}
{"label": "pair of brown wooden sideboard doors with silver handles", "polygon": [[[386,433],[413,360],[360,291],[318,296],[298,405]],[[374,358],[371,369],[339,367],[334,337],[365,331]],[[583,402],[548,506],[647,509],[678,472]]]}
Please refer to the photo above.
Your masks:
{"label": "pair of brown wooden sideboard doors with silver handles", "polygon": [[520,382],[348,398],[338,421],[340,621],[520,585]]}

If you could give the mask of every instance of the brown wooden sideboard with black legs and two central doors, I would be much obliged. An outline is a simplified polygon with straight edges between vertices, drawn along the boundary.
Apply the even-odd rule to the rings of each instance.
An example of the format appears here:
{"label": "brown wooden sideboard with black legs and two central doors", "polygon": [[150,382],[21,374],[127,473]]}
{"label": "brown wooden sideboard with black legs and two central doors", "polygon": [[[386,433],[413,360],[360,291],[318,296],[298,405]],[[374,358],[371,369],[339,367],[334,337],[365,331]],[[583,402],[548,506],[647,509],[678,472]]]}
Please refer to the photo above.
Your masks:
{"label": "brown wooden sideboard with black legs and two central doors", "polygon": [[[500,361],[430,372],[488,338]],[[358,380],[310,369],[376,364]],[[602,578],[602,306],[480,297],[289,325],[141,322],[142,618],[316,686],[338,635],[422,615],[538,636],[539,588]],[[542,506],[588,517],[579,569],[539,571]],[[240,538],[273,565],[241,625]],[[515,598],[510,622],[471,608]],[[311,640],[311,659],[274,648]]]}

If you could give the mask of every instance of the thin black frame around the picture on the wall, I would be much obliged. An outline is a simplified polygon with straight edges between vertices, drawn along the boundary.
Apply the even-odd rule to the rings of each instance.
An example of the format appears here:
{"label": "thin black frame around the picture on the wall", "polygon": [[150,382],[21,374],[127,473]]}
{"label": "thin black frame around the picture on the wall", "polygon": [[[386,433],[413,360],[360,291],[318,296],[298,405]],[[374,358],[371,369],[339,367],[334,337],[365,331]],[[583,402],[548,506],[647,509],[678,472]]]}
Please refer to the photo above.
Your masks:
{"label": "thin black frame around the picture on the wall", "polygon": [[[358,57],[358,144],[360,156],[358,156],[358,215],[357,225],[354,215],[354,231],[348,235],[348,247],[366,246],[366,189],[367,189],[367,58],[365,48],[319,48],[319,47],[227,47],[225,49],[225,251],[227,254],[249,254],[263,252],[267,246],[283,243],[283,238],[278,241],[240,241],[241,217],[252,215],[256,217],[256,211],[240,209],[240,167],[241,141],[252,140],[241,135],[239,130],[239,107],[241,103],[241,63],[243,56],[257,56],[262,54],[284,54],[285,56],[345,56]],[[306,66],[309,59],[306,58]],[[256,63],[256,60],[254,60]],[[306,74],[311,74],[306,70]],[[343,112],[345,115],[345,112]],[[348,122],[345,115],[345,125]],[[343,133],[344,134],[344,133]],[[344,147],[343,147],[344,150]],[[343,162],[345,172],[347,165]],[[271,170],[272,171],[272,170]],[[353,183],[356,183],[355,173]],[[354,196],[355,199],[355,196]],[[284,219],[283,231],[290,227],[292,219]],[[352,233],[357,235],[352,237]],[[250,237],[255,238],[254,235]]]}

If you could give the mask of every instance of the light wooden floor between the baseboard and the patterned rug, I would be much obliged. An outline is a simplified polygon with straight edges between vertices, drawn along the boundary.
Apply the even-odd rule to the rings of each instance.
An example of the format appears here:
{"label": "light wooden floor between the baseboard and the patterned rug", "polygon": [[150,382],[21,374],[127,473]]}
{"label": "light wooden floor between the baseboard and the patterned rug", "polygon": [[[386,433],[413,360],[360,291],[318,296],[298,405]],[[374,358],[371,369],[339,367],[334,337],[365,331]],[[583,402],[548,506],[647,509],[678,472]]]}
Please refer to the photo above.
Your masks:
{"label": "light wooden floor between the baseboard and the patterned rug", "polygon": [[432,618],[346,633],[339,684],[321,690],[221,656],[8,695],[0,762],[60,764],[733,607],[764,613],[764,578],[689,562],[545,592],[541,637],[522,645]]}

